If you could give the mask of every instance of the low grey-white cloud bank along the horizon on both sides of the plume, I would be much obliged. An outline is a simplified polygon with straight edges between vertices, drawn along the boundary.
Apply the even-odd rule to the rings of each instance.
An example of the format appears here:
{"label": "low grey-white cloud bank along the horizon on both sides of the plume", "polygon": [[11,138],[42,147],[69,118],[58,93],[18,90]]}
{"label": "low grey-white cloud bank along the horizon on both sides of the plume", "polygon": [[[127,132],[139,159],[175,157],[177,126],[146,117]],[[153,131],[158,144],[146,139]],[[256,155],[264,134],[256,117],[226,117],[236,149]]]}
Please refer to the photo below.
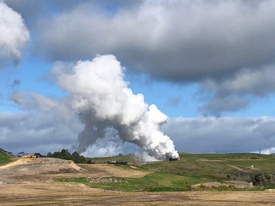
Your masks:
{"label": "low grey-white cloud bank along the horizon on both sides of the plume", "polygon": [[[83,124],[77,116],[64,118],[58,111],[0,112],[0,148],[12,152],[74,150],[81,130]],[[259,148],[263,154],[275,152],[274,117],[180,117],[169,119],[163,130],[179,152],[259,152]],[[118,136],[106,135],[84,154],[107,157],[132,152],[140,152],[140,148]]]}

